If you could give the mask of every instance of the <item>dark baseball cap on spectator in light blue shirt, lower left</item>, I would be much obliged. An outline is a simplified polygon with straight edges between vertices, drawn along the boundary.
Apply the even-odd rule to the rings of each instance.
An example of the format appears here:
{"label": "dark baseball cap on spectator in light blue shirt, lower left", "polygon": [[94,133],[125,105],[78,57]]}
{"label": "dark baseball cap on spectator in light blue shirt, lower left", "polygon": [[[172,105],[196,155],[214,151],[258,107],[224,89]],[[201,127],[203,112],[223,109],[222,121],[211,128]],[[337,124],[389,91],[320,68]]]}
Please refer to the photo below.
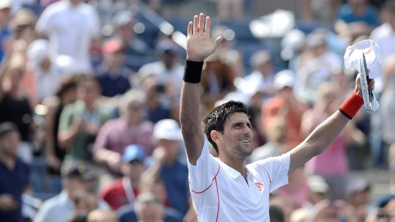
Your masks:
{"label": "dark baseball cap on spectator in light blue shirt, lower left", "polygon": [[62,177],[67,178],[79,178],[82,180],[92,180],[95,178],[95,174],[92,169],[84,162],[73,161],[66,162],[60,169]]}

